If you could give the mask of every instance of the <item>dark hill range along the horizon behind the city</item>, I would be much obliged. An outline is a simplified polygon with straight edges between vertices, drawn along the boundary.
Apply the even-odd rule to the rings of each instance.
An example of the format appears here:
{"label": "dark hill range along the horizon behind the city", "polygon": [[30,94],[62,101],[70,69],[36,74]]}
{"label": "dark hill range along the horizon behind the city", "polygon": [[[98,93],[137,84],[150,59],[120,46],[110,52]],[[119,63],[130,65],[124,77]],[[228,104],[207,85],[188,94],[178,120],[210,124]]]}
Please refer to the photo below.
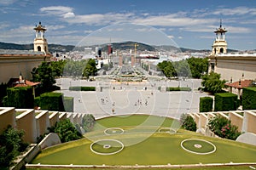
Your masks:
{"label": "dark hill range along the horizon behind the city", "polygon": [[[137,50],[140,51],[173,51],[173,52],[209,52],[208,49],[190,49],[190,48],[176,48],[174,46],[167,46],[167,45],[161,45],[161,46],[150,46],[145,43],[141,42],[113,42],[112,47],[113,50],[119,49],[119,50],[129,50],[134,49],[134,44],[137,43]],[[102,44],[102,50],[107,51],[108,44]],[[6,42],[0,42],[0,49],[18,49],[18,50],[31,50],[33,49],[33,44],[16,44],[16,43],[6,43]],[[49,52],[69,52],[73,49],[83,51],[84,47],[75,47],[73,45],[60,45],[60,44],[49,44],[48,45]],[[96,46],[91,46],[91,48],[96,48]],[[237,52],[236,49],[228,49],[228,53],[231,52]]]}

